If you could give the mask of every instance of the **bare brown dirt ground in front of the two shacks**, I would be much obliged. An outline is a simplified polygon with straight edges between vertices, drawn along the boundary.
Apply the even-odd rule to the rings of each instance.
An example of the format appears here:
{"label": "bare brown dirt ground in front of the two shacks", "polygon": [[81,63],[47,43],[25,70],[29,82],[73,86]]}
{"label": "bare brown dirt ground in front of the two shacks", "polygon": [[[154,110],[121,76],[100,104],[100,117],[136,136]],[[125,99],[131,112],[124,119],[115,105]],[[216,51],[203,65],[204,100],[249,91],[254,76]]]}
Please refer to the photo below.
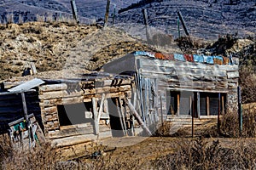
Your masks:
{"label": "bare brown dirt ground in front of the two shacks", "polygon": [[[93,154],[97,150],[104,149],[102,157],[106,160],[111,159],[111,162],[115,164],[121,164],[121,162],[127,163],[127,166],[131,166],[129,161],[137,163],[146,167],[143,169],[152,168],[152,162],[160,156],[167,156],[175,153],[179,147],[183,147],[183,144],[191,143],[196,138],[173,138],[173,137],[126,137],[126,138],[111,138],[102,140],[102,146],[98,145],[93,148],[89,153]],[[240,144],[249,146],[256,142],[256,139],[227,139],[227,138],[207,138],[205,141],[207,144],[212,144],[213,141],[219,141],[219,144],[223,148],[232,149],[240,147]],[[90,162],[91,158],[81,157],[79,161],[84,163]],[[103,158],[104,159],[104,158]],[[138,166],[139,167],[139,166]],[[133,167],[137,169],[138,167]],[[122,168],[121,168],[122,169]],[[126,168],[124,168],[126,169]]]}

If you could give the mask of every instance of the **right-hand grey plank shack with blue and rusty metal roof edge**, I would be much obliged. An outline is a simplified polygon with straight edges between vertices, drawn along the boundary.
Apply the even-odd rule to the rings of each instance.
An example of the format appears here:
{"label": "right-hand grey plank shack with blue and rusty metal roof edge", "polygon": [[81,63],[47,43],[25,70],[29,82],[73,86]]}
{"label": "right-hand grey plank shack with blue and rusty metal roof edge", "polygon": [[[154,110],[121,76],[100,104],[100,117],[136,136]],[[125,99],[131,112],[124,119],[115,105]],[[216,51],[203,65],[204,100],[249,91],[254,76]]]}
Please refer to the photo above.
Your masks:
{"label": "right-hand grey plank shack with blue and rusty metal roof edge", "polygon": [[147,125],[166,117],[216,117],[237,111],[238,59],[137,51],[102,71],[135,77],[137,111]]}

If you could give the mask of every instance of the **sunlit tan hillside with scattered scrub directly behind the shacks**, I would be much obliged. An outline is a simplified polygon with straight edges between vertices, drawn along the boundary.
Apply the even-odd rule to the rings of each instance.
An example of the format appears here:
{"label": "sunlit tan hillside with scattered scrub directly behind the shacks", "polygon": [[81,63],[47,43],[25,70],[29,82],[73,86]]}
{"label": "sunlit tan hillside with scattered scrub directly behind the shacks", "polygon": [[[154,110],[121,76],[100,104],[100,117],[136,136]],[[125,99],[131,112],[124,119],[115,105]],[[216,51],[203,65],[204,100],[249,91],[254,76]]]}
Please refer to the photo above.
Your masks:
{"label": "sunlit tan hillside with scattered scrub directly behind the shacks", "polygon": [[[125,31],[64,23],[26,23],[0,26],[0,79],[20,77],[30,62],[46,77],[94,71],[108,60],[136,50],[158,50]],[[160,49],[180,52],[177,46]],[[40,76],[40,75],[39,75]],[[71,76],[73,77],[73,76]]]}

